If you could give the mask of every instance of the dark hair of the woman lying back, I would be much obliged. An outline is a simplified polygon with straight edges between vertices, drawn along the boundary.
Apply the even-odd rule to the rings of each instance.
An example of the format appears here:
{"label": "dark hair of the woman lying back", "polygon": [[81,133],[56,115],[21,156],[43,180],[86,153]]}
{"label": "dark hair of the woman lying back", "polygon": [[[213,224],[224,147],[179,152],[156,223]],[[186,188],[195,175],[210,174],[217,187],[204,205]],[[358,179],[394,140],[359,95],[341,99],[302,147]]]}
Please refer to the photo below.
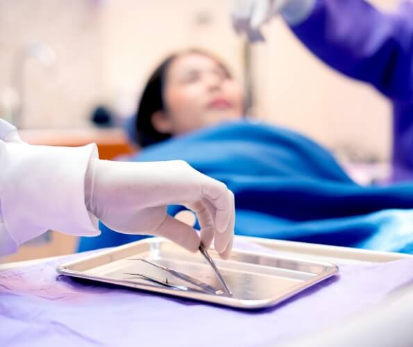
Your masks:
{"label": "dark hair of the woman lying back", "polygon": [[149,80],[144,88],[144,92],[140,98],[140,103],[137,107],[134,123],[137,136],[136,141],[141,147],[162,142],[171,137],[171,134],[159,133],[158,130],[153,127],[152,115],[157,111],[165,110],[163,88],[169,66],[176,58],[190,53],[201,54],[216,60],[228,73],[228,76],[230,76],[229,70],[218,58],[214,57],[211,53],[200,49],[188,49],[187,51],[174,53],[168,56],[160,63],[155,71],[153,71],[153,74],[149,77]]}

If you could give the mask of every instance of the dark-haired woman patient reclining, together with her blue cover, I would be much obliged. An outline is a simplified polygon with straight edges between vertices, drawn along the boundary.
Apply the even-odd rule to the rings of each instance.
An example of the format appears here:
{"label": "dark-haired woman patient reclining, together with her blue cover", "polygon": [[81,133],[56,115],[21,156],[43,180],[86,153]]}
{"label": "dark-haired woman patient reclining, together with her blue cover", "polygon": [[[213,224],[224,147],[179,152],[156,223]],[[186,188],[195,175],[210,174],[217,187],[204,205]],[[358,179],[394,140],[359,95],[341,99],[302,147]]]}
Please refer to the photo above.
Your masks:
{"label": "dark-haired woman patient reclining, together with her blue cover", "polygon": [[[307,137],[245,121],[243,103],[241,86],[214,56],[169,56],[144,88],[129,129],[142,150],[130,160],[186,160],[226,183],[239,235],[412,251],[405,226],[413,222],[413,184],[360,187]],[[81,250],[130,240],[103,230]]]}

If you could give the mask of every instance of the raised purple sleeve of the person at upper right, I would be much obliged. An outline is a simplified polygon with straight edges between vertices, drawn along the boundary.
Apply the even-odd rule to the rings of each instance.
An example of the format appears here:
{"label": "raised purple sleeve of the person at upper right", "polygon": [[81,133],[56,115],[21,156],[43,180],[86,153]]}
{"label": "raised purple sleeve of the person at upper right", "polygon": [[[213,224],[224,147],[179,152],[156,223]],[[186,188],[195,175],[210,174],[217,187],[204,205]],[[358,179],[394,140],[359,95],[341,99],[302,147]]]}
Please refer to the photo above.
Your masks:
{"label": "raised purple sleeve of the person at upper right", "polygon": [[387,14],[364,0],[317,0],[292,28],[321,60],[374,85],[391,99],[413,99],[413,4]]}

